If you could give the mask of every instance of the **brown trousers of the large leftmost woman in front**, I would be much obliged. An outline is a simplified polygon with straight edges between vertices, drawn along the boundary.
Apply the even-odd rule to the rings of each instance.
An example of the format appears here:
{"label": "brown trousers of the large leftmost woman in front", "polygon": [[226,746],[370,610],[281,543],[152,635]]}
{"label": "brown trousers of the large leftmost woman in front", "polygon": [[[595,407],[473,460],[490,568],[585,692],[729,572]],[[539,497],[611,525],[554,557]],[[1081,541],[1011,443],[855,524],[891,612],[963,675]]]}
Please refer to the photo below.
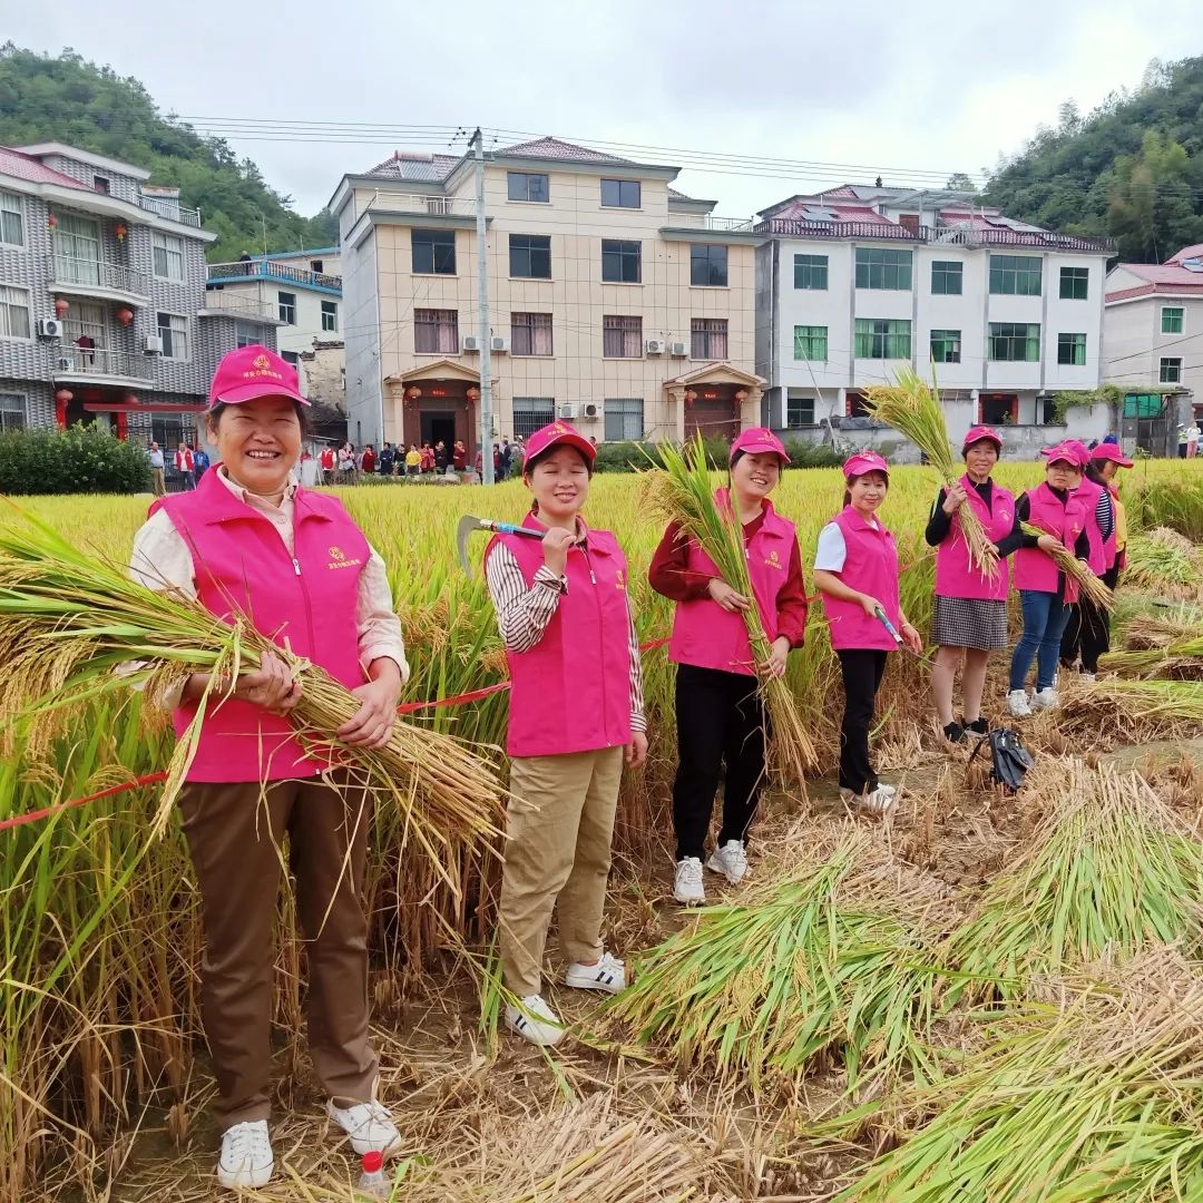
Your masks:
{"label": "brown trousers of the large leftmost woman in front", "polygon": [[191,782],[180,794],[205,926],[201,1005],[223,1130],[271,1113],[272,977],[282,845],[296,878],[309,962],[308,1036],[322,1086],[343,1106],[372,1097],[368,924],[362,888],[371,798],[320,778]]}

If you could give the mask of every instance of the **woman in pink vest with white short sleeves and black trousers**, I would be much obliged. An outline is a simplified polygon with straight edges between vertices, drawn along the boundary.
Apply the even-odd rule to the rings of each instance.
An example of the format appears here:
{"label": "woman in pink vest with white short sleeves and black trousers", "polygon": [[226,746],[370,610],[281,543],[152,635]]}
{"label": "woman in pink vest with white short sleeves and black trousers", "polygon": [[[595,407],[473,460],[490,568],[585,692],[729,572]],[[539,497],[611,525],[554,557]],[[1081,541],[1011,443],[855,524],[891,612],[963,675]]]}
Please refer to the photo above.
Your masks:
{"label": "woman in pink vest with white short sleeves and black trousers", "polygon": [[877,780],[869,757],[869,728],[885,657],[897,646],[882,615],[912,652],[923,651],[919,632],[899,602],[899,555],[894,535],[877,517],[889,490],[889,467],[876,451],[858,451],[843,466],[843,509],[819,532],[814,587],[831,624],[831,646],[843,676],[840,727],[840,796],[871,814],[894,806],[895,789]]}

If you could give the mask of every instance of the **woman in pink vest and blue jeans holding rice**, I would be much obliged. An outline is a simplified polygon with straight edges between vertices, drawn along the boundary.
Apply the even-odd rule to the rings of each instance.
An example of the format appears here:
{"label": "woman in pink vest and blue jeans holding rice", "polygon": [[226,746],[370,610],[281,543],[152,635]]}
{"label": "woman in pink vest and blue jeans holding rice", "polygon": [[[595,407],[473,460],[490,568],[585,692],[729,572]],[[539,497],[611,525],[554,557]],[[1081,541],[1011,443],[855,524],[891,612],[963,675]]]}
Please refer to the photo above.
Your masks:
{"label": "woman in pink vest and blue jeans holding rice", "polygon": [[[1041,535],[1020,535],[1015,552],[1015,587],[1024,612],[1024,633],[1011,657],[1011,686],[1007,707],[1024,717],[1057,705],[1056,666],[1061,635],[1069,617],[1069,603],[1078,587],[1066,577],[1053,552],[1073,549],[1079,559],[1090,555],[1088,526],[1092,520],[1094,499],[1078,492],[1089,452],[1077,440],[1059,443],[1044,452],[1044,484],[1021,493],[1015,502],[1020,522],[1043,531]],[[1036,693],[1029,699],[1027,672],[1036,660]]]}

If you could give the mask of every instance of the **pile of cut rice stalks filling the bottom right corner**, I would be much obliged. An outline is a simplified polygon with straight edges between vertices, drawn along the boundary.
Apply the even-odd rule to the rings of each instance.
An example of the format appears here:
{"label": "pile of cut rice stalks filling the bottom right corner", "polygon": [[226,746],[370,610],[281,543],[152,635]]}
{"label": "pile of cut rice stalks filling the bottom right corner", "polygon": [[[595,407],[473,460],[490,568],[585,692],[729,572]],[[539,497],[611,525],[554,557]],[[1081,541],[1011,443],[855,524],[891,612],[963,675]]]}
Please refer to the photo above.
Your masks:
{"label": "pile of cut rice stalks filling the bottom right corner", "polygon": [[[888,1108],[934,1116],[838,1203],[1168,1203],[1203,1197],[1203,982],[1157,949],[1060,1005],[979,1017],[960,1073]],[[1051,991],[1050,991],[1051,992]],[[859,1119],[828,1125],[854,1128]]]}

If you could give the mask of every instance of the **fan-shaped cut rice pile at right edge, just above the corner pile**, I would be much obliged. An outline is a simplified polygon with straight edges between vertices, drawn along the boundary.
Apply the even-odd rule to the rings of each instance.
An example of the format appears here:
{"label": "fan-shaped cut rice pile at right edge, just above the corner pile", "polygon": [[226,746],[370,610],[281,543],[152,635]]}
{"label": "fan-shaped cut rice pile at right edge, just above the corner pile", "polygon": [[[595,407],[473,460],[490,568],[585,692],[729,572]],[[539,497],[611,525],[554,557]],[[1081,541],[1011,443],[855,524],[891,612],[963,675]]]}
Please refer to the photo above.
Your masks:
{"label": "fan-shaped cut rice pile at right edge, just above the corner pile", "polygon": [[1181,941],[1203,952],[1203,845],[1138,774],[1045,760],[1029,802],[1054,799],[1029,851],[986,888],[941,950],[948,990],[1018,997],[1045,973]]}

